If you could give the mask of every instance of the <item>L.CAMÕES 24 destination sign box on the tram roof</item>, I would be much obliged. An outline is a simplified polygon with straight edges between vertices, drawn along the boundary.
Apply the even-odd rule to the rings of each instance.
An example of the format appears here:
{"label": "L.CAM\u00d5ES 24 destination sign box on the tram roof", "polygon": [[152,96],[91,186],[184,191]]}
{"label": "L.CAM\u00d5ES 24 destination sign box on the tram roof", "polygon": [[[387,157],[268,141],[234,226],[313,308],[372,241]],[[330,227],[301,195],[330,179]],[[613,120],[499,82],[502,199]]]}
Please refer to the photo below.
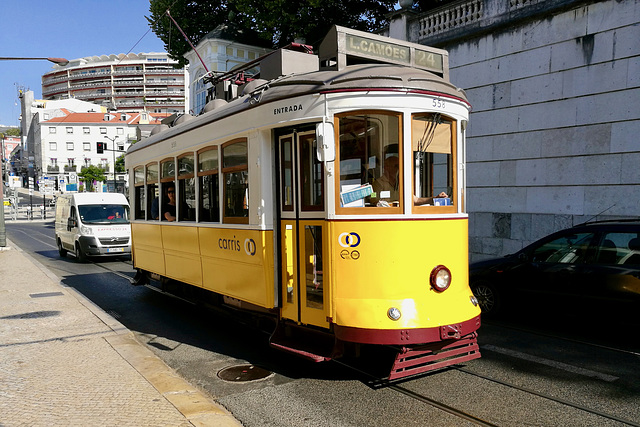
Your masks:
{"label": "L.CAM\u00d5ES 24 destination sign box on the tram roof", "polygon": [[341,69],[354,58],[408,65],[448,79],[448,54],[442,49],[334,26],[320,45],[320,60]]}

